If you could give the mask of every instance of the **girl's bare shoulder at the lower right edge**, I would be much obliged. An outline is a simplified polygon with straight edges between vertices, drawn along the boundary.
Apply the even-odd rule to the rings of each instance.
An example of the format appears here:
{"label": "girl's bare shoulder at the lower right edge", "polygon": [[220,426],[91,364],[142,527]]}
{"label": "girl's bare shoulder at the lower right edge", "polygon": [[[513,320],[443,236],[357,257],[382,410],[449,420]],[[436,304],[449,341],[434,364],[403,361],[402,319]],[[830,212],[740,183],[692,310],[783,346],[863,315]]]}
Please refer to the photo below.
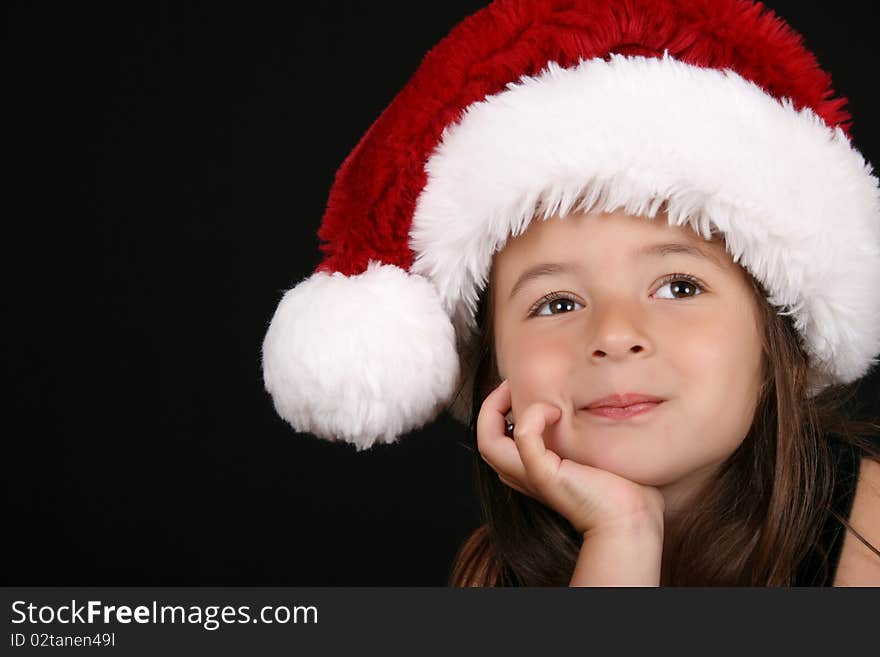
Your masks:
{"label": "girl's bare shoulder at the lower right edge", "polygon": [[858,454],[858,479],[834,586],[880,586],[880,463]]}

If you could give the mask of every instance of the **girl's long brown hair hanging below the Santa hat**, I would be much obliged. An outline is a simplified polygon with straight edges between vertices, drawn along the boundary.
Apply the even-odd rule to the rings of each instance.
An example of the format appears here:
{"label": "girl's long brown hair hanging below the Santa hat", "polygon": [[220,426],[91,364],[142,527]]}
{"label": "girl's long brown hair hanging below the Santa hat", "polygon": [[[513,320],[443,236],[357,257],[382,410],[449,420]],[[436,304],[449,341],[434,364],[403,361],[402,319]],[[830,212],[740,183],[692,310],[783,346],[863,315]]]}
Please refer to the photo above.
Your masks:
{"label": "girl's long brown hair hanging below the Santa hat", "polygon": [[[858,382],[831,386],[807,399],[808,362],[790,315],[776,312],[763,286],[748,278],[764,327],[766,378],[748,434],[701,491],[676,533],[680,540],[670,546],[677,555],[669,569],[671,585],[791,585],[829,513],[854,531],[832,507],[836,472],[829,437],[880,461],[872,442],[880,425],[850,417],[847,410]],[[581,536],[556,511],[501,482],[477,450],[482,401],[500,383],[493,303],[488,284],[476,316],[479,333],[465,363],[475,368],[468,447],[485,524],[459,548],[449,583],[567,586]],[[750,494],[743,495],[746,490]],[[823,567],[825,581],[827,559]]]}

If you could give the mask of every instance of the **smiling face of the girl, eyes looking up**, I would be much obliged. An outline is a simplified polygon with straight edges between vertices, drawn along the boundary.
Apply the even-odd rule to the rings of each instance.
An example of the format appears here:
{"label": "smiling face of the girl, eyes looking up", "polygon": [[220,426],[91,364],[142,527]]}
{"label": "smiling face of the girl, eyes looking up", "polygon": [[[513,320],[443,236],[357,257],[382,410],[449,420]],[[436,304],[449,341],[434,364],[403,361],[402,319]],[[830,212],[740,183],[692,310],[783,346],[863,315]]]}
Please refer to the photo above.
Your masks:
{"label": "smiling face of the girl, eyes looking up", "polygon": [[[670,243],[707,257],[658,246]],[[517,284],[544,263],[570,270]],[[707,477],[745,438],[763,374],[761,328],[748,274],[722,242],[669,226],[664,214],[536,218],[495,254],[490,284],[510,416],[537,401],[558,406],[544,439],[561,457],[674,487]],[[559,294],[542,301],[549,293]],[[665,401],[625,420],[583,410],[628,392]]]}

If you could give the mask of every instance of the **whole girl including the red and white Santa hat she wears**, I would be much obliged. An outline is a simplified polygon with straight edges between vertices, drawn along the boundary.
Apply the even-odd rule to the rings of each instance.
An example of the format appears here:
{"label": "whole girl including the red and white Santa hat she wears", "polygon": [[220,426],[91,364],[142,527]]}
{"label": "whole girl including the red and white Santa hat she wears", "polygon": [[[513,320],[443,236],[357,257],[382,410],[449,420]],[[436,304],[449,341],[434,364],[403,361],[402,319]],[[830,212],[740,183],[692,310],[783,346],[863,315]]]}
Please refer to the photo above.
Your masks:
{"label": "whole girl including the red and white Santa hat she wears", "polygon": [[880,584],[844,105],[756,2],[492,3],[340,167],[263,342],[276,410],[359,450],[468,424],[454,585]]}

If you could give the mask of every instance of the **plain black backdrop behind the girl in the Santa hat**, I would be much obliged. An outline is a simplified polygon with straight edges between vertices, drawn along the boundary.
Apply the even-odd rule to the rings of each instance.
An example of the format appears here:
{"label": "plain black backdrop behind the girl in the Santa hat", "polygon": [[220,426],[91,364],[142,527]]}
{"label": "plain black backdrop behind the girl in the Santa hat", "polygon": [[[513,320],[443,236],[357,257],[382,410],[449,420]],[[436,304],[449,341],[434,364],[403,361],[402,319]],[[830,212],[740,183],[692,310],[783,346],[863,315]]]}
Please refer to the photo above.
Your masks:
{"label": "plain black backdrop behind the girl in the Santa hat", "polygon": [[[337,167],[484,4],[8,5],[4,584],[446,583],[479,523],[465,428],[297,435],[260,345]],[[875,3],[767,4],[880,163]]]}

